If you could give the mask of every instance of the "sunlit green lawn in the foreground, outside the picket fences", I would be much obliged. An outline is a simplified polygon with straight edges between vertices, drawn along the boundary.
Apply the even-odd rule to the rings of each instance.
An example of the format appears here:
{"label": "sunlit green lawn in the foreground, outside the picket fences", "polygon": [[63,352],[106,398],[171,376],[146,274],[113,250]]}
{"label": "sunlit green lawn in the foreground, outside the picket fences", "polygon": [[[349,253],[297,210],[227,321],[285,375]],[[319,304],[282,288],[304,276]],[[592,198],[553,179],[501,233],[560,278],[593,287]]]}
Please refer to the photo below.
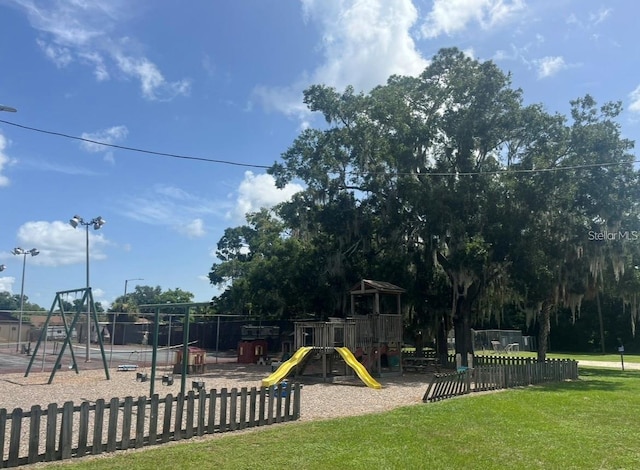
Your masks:
{"label": "sunlit green lawn in the foreground, outside the picket fences", "polygon": [[[47,468],[635,469],[640,372],[580,368],[580,380],[394,411],[290,423]],[[302,401],[304,413],[304,393]]]}

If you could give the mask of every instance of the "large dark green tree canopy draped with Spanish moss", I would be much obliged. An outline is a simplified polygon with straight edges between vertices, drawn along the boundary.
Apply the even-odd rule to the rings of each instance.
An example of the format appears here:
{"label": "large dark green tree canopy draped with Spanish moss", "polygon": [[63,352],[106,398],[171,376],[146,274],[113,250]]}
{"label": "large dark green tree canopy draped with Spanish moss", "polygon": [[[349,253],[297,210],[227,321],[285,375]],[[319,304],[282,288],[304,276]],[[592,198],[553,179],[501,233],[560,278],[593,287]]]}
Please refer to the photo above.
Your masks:
{"label": "large dark green tree canopy draped with Spanish moss", "polygon": [[309,87],[325,123],[269,170],[305,189],[225,231],[218,307],[335,316],[355,282],[386,280],[407,290],[408,330],[446,352],[453,329],[463,362],[471,328],[505,315],[537,327],[544,357],[552,314],[573,321],[600,292],[628,306],[633,331],[638,173],[621,105],[587,95],[563,116],[522,95],[455,48],[369,93]]}

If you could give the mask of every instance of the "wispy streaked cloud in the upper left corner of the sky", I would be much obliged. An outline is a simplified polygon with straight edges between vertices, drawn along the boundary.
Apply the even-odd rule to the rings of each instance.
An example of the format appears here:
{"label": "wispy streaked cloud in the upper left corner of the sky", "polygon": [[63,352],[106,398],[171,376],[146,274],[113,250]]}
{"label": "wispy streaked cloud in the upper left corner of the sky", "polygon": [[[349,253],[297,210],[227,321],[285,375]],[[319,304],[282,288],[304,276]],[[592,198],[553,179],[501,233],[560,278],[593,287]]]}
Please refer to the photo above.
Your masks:
{"label": "wispy streaked cloud in the upper left corner of the sky", "polygon": [[171,100],[190,92],[189,80],[168,81],[158,66],[137,52],[135,40],[117,28],[126,24],[136,8],[126,0],[13,0],[31,25],[43,36],[38,45],[58,67],[78,60],[93,67],[98,81],[115,69],[125,78],[140,82],[148,100]]}

